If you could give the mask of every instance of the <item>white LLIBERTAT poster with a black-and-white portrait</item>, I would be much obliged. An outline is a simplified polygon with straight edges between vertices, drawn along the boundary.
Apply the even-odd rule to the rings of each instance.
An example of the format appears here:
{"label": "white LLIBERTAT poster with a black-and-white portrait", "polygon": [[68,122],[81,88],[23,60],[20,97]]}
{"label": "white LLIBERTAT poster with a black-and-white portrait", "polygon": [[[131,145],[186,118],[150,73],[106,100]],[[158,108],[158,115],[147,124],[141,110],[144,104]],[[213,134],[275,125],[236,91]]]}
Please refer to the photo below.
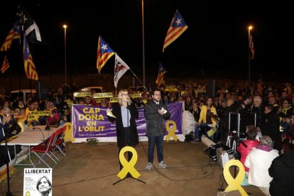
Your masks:
{"label": "white LLIBERTAT poster with a black-and-white portrait", "polygon": [[52,168],[24,168],[23,196],[52,196]]}

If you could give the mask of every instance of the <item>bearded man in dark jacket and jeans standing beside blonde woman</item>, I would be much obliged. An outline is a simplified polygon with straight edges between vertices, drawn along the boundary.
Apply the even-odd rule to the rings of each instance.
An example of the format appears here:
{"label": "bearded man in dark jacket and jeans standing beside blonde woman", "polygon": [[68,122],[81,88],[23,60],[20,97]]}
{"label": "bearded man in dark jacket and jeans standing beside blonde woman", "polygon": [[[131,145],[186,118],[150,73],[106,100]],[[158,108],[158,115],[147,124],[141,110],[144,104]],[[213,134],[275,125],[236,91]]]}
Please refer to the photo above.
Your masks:
{"label": "bearded man in dark jacket and jeans standing beside blonde woman", "polygon": [[152,99],[145,105],[146,136],[148,136],[148,164],[146,170],[153,167],[154,146],[157,148],[159,166],[163,169],[168,165],[163,161],[163,137],[165,135],[164,120],[170,118],[168,107],[161,100],[161,92],[155,89],[151,92]]}

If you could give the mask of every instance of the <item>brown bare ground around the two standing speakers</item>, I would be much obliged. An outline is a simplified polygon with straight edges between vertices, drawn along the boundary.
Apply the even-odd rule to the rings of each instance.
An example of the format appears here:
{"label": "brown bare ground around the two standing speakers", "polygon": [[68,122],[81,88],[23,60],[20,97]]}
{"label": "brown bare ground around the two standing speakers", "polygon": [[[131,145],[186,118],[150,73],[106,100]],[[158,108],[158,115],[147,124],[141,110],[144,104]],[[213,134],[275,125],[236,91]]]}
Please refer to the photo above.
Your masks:
{"label": "brown bare ground around the two standing speakers", "polygon": [[[226,188],[222,167],[204,153],[204,143],[170,141],[164,143],[167,169],[158,167],[155,152],[152,170],[145,170],[148,143],[136,146],[138,178],[146,184],[126,178],[113,185],[119,178],[118,148],[116,143],[67,144],[66,157],[58,154],[60,163],[53,167],[53,195],[217,195],[219,188]],[[45,168],[40,165],[40,168]],[[11,178],[13,195],[23,195],[23,168],[16,167]],[[233,172],[232,172],[233,173]],[[245,186],[251,195],[263,195],[258,187]],[[7,183],[0,183],[0,195],[6,195]]]}

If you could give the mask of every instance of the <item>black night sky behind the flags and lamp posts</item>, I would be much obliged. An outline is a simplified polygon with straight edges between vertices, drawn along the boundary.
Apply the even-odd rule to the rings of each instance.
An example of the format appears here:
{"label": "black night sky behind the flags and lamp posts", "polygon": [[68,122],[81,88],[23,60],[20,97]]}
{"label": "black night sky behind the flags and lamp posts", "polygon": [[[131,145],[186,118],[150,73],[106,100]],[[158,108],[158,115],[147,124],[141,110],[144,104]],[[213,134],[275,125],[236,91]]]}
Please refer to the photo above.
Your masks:
{"label": "black night sky behind the flags and lamp posts", "polygon": [[[82,3],[81,3],[82,2]],[[265,1],[145,0],[146,75],[157,75],[162,62],[168,75],[207,77],[220,72],[241,72],[248,67],[248,26],[254,29],[255,58],[251,72],[266,75],[287,72],[293,65],[293,14],[289,4]],[[64,29],[67,23],[67,72],[97,73],[97,42],[99,35],[109,43],[131,70],[142,75],[141,0],[23,1],[36,21],[48,45],[29,44],[38,73],[64,73]],[[0,42],[16,21],[18,2],[1,2]],[[176,9],[187,23],[187,30],[162,53],[163,41]],[[18,43],[13,43],[10,72],[23,72],[22,57],[18,59]],[[4,58],[0,54],[0,60]],[[114,56],[102,69],[114,72]]]}

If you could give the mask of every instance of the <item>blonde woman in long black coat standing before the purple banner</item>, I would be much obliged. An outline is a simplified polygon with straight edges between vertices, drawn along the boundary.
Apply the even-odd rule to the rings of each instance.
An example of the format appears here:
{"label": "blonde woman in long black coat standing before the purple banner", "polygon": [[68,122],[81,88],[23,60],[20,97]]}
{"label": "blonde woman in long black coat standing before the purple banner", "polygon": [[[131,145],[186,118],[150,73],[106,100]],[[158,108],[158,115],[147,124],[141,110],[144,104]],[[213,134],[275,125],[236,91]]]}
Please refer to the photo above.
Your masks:
{"label": "blonde woman in long black coat standing before the purple banner", "polygon": [[[138,118],[136,106],[129,97],[126,89],[121,89],[118,94],[118,102],[114,103],[112,111],[107,109],[109,121],[116,121],[116,138],[119,152],[125,146],[136,146],[138,144],[138,132],[135,119]],[[131,160],[132,153],[128,152],[128,159]],[[119,163],[120,170],[122,169]]]}

